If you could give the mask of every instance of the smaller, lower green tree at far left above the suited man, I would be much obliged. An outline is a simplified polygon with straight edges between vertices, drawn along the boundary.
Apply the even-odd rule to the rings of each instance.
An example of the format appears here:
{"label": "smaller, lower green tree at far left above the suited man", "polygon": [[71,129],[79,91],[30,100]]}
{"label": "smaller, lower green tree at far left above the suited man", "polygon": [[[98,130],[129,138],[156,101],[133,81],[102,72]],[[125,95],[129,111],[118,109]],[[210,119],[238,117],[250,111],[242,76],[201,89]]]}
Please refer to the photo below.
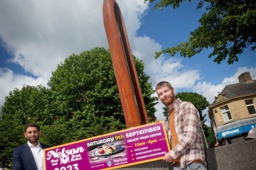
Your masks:
{"label": "smaller, lower green tree at far left above the suited man", "polygon": [[23,86],[21,90],[14,89],[5,98],[1,107],[2,119],[16,119],[20,125],[36,122],[44,123],[50,119],[50,91],[43,86]]}

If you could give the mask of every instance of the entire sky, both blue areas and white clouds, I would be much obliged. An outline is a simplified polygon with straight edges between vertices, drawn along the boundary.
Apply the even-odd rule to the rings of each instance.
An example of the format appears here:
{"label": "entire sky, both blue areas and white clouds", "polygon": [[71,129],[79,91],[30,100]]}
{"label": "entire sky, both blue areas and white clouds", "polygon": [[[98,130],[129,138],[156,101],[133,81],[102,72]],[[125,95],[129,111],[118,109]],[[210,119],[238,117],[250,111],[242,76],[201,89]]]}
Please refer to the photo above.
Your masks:
{"label": "entire sky, both blue areas and white clouds", "polygon": [[[73,53],[92,47],[108,47],[102,19],[103,0],[77,1],[0,1],[0,105],[14,88],[23,85],[47,86],[58,64]],[[117,0],[129,36],[132,53],[145,64],[153,87],[166,80],[176,92],[193,91],[211,103],[218,91],[238,83],[242,72],[256,79],[255,52],[245,50],[239,62],[221,64],[208,58],[203,50],[192,58],[154,53],[188,40],[199,25],[203,9],[196,2],[185,2],[180,8],[170,6],[154,10],[144,0]],[[159,120],[161,103],[156,106]],[[204,111],[207,113],[207,110]]]}

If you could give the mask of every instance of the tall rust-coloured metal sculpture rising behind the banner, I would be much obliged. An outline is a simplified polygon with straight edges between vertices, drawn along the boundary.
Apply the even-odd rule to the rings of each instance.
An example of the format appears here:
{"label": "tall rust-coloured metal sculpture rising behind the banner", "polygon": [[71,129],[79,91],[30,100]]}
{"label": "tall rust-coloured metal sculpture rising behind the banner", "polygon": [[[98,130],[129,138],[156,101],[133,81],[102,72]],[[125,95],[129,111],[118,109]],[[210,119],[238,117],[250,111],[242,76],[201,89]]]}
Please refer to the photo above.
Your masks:
{"label": "tall rust-coloured metal sculpture rising behind the banner", "polygon": [[116,1],[104,0],[103,20],[127,128],[149,123],[122,13]]}

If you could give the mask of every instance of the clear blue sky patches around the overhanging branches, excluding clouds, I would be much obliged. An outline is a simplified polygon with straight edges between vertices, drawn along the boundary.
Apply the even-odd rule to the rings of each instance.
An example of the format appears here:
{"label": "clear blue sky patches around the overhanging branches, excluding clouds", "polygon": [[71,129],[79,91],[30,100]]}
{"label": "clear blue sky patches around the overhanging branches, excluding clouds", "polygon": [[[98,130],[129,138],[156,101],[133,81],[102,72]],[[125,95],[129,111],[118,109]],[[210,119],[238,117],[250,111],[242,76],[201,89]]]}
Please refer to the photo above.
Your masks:
{"label": "clear blue sky patches around the overhanging branches, excluding clouds", "polygon": [[[142,18],[142,28],[138,35],[150,35],[154,40],[162,45],[162,49],[178,45],[182,41],[187,41],[189,33],[200,26],[199,19],[206,12],[203,8],[196,9],[197,2],[185,1],[177,9],[170,6],[153,10],[150,6],[148,14]],[[208,58],[209,50],[203,50],[200,54],[191,59],[184,59],[183,64],[193,69],[199,69],[205,81],[219,84],[223,77],[231,77],[238,67],[255,67],[255,51],[245,50],[239,57],[239,62],[228,64],[227,60],[221,64],[213,62],[213,57]],[[165,57],[170,57],[165,55]],[[177,54],[176,57],[179,57]],[[220,76],[222,74],[222,76]]]}

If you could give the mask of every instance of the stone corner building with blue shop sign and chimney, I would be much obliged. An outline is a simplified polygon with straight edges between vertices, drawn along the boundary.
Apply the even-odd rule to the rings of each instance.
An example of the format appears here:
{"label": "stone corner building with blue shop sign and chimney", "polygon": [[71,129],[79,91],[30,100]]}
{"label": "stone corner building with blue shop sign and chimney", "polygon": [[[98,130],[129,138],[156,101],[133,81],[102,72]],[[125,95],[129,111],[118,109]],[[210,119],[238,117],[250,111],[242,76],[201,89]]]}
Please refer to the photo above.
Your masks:
{"label": "stone corner building with blue shop sign and chimney", "polygon": [[210,124],[220,145],[243,142],[256,128],[256,80],[250,72],[239,77],[238,84],[225,86],[208,107]]}

